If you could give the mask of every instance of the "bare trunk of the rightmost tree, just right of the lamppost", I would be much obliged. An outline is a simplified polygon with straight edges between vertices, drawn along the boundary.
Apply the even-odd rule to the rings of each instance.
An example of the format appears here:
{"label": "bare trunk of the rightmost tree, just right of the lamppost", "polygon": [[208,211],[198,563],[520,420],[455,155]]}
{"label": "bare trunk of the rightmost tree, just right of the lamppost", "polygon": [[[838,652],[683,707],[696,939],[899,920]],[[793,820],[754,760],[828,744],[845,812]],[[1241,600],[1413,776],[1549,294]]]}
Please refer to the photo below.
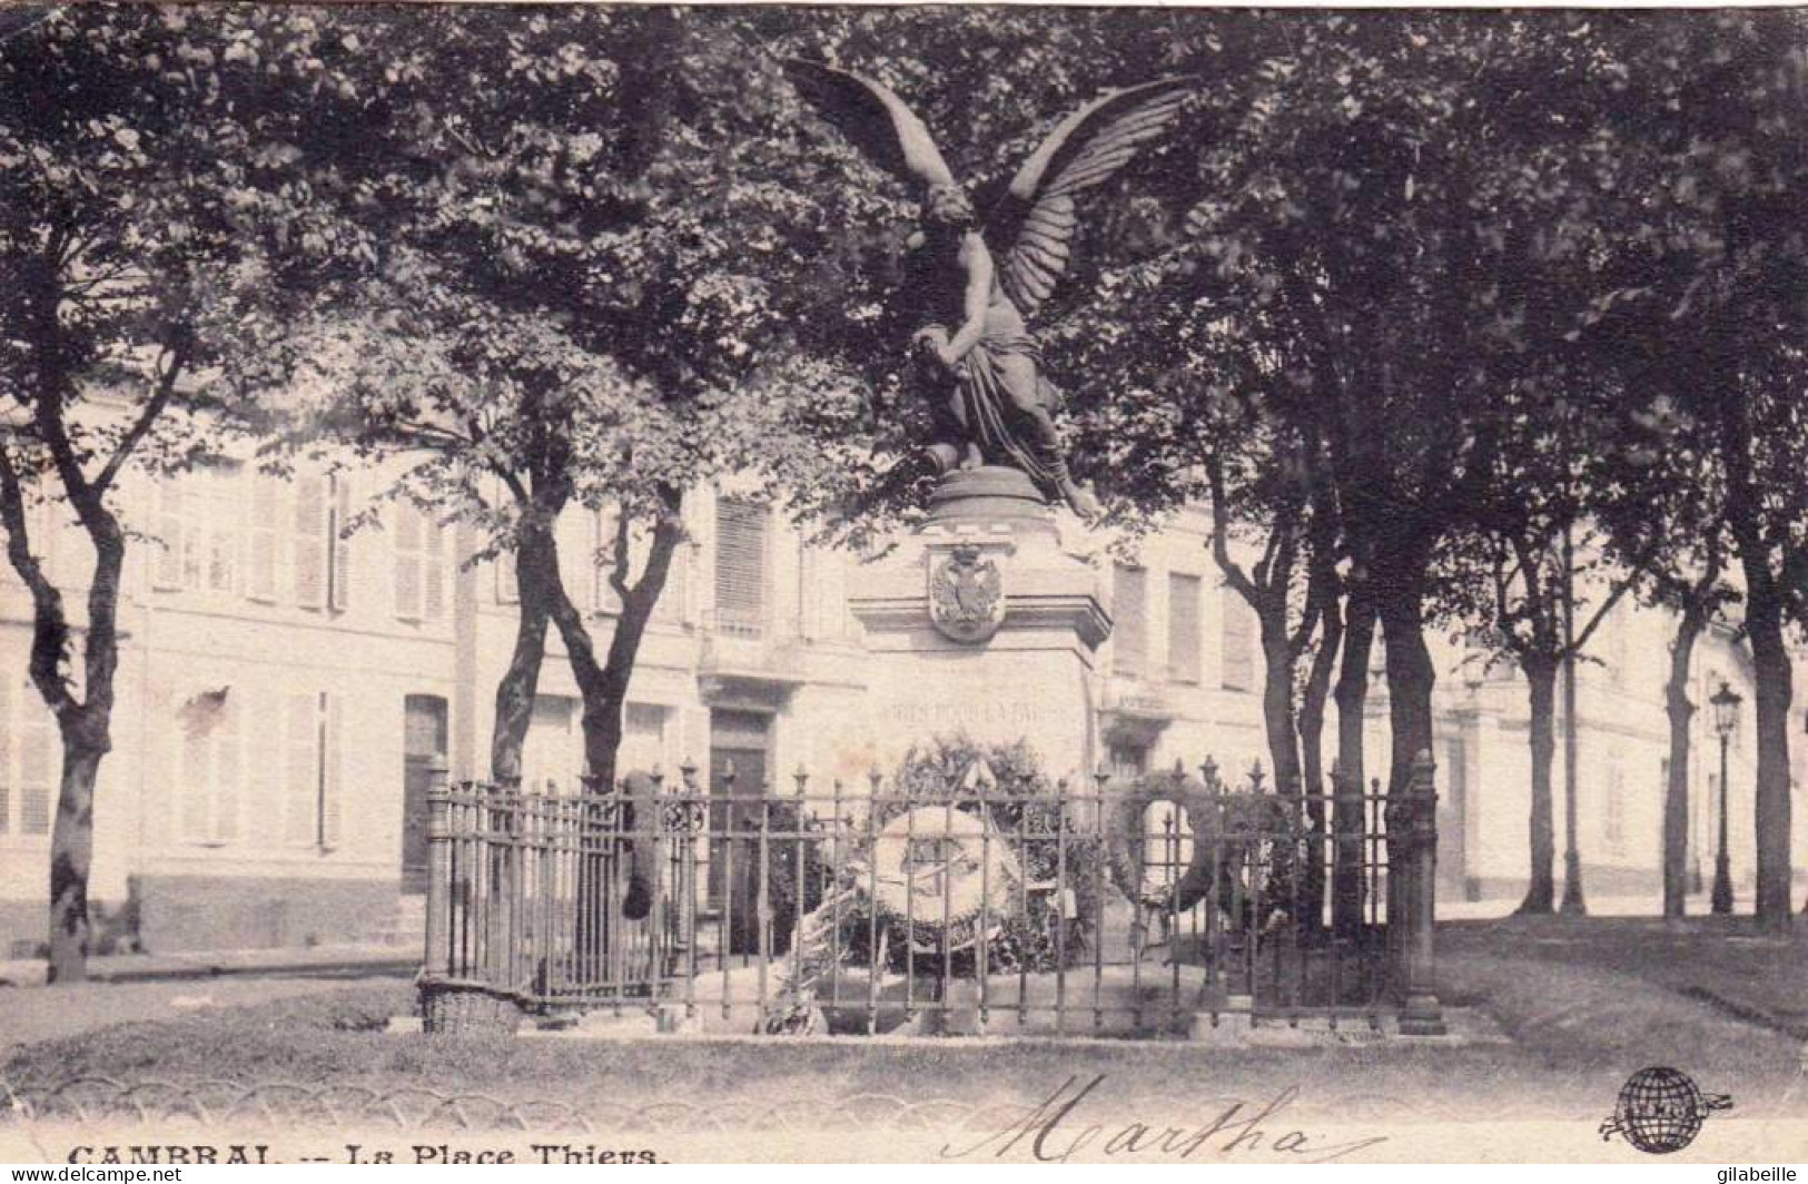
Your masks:
{"label": "bare trunk of the rightmost tree, just right of the lamppost", "polygon": [[[1765,553],[1747,550],[1745,629],[1752,642],[1757,716],[1757,924],[1790,926],[1790,654],[1783,644],[1783,604]],[[1730,786],[1721,786],[1725,794]]]}

